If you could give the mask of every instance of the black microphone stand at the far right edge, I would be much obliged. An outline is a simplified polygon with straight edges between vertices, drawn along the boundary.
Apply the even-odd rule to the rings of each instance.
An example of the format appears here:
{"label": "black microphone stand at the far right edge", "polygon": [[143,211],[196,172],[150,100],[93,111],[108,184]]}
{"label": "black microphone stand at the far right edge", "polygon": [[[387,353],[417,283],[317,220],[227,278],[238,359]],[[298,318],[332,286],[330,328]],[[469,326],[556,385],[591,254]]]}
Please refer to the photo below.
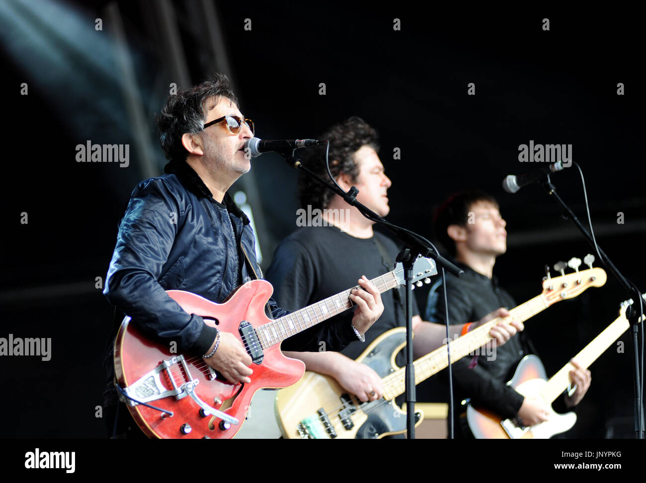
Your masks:
{"label": "black microphone stand at the far right edge", "polygon": [[[563,216],[565,219],[572,220],[572,223],[576,225],[576,227],[583,233],[583,236],[585,239],[590,243],[592,248],[596,249],[598,251],[598,254],[601,255],[603,258],[602,260],[599,260],[600,262],[604,262],[606,267],[609,269],[612,274],[619,280],[621,285],[626,289],[627,293],[629,296],[632,296],[635,300],[634,304],[635,305],[637,302],[640,302],[640,300],[643,300],[640,291],[637,289],[637,287],[634,287],[633,285],[630,284],[628,280],[621,274],[621,272],[617,269],[617,267],[614,266],[612,262],[610,262],[610,258],[608,258],[607,254],[603,250],[601,250],[601,247],[599,247],[598,244],[595,243],[593,240],[592,236],[590,236],[589,232],[585,227],[581,224],[581,221],[576,217],[576,214],[565,204],[563,200],[561,200],[561,197],[557,194],[556,192],[556,187],[552,184],[552,181],[550,180],[550,175],[547,175],[547,180],[543,181],[541,183],[543,185],[543,188],[547,190],[547,194],[551,195],[554,200],[559,204],[561,209],[563,209]],[[639,354],[638,354],[638,344],[637,344],[637,335],[639,333],[639,327],[640,325],[638,324],[638,320],[641,317],[641,314],[636,311],[632,305],[629,305],[626,311],[626,316],[628,320],[630,321],[630,324],[632,325],[632,345],[633,345],[633,353],[634,353],[634,365],[633,365],[633,373],[634,373],[634,391],[635,391],[635,432],[637,433],[637,438],[638,439],[643,439],[644,437],[644,416],[643,416],[643,406],[642,406],[642,401],[641,401],[641,375],[640,375],[640,364],[639,364]],[[642,328],[643,329],[643,328]]]}

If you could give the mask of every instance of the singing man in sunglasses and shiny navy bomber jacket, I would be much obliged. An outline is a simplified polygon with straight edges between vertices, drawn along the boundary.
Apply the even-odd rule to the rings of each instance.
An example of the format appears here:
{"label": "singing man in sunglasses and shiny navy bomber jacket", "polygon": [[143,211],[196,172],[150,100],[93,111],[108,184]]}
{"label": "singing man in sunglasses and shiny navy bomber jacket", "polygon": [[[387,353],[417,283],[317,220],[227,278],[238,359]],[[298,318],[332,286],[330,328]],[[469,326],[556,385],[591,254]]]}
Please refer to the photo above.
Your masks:
{"label": "singing man in sunglasses and shiny navy bomber jacket", "polygon": [[[186,313],[165,291],[180,289],[222,303],[238,285],[262,276],[249,220],[227,193],[251,169],[244,145],[254,135],[254,123],[240,113],[224,74],[170,96],[156,122],[169,159],[166,174],[141,181],[132,192],[103,293],[147,336],[174,342],[178,354],[202,357],[234,384],[249,383],[251,357],[238,338]],[[353,320],[361,333],[383,309],[376,287],[363,285],[366,291],[359,296],[371,300],[365,308],[359,305]],[[270,318],[286,314],[272,299],[266,311]],[[319,325],[317,340],[329,347],[341,349],[357,338],[349,324]],[[138,437],[143,433],[117,402],[112,385],[116,329],[118,324],[104,360],[105,420],[110,434],[118,427],[120,436]]]}

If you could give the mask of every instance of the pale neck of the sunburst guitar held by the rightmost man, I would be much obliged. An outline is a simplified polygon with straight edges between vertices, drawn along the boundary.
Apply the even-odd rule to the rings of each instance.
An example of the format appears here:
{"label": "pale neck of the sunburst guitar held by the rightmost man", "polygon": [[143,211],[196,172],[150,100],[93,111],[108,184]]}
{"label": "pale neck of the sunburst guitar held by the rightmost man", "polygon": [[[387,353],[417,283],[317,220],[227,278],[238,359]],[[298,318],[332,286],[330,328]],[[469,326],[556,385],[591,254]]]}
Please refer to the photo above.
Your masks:
{"label": "pale neck of the sunburst guitar held by the rightmost man", "polygon": [[[621,314],[601,334],[596,336],[590,344],[586,345],[583,351],[574,356],[574,359],[579,365],[587,369],[614,341],[621,337],[621,334],[628,330],[628,327],[630,327],[628,320],[624,314]],[[552,404],[567,389],[570,384],[570,371],[574,371],[574,369],[576,367],[571,362],[568,362],[548,380],[540,392],[540,395],[546,402]]]}

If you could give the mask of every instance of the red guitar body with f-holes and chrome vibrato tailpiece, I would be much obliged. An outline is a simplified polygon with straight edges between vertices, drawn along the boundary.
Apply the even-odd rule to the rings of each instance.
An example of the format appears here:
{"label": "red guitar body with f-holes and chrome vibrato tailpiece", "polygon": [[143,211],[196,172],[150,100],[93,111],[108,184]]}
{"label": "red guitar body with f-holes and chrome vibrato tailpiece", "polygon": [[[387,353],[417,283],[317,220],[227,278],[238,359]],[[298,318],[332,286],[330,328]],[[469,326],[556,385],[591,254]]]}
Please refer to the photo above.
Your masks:
{"label": "red guitar body with f-holes and chrome vibrato tailpiece", "polygon": [[[252,280],[238,287],[222,304],[185,291],[171,290],[167,294],[187,313],[202,316],[206,324],[234,334],[242,342],[238,330],[241,322],[250,322],[255,328],[269,322],[264,306],[272,292],[269,282]],[[209,370],[202,357],[187,355],[183,361],[176,360],[180,355],[171,352],[171,349],[149,340],[136,325],[130,323],[130,318],[121,324],[115,342],[114,369],[120,387],[133,385],[130,396],[138,400],[147,399],[148,404],[174,413],[162,417],[162,413],[155,409],[139,404],[128,405],[134,420],[151,438],[231,438],[242,426],[251,398],[258,389],[295,384],[305,371],[305,365],[300,360],[287,358],[281,353],[280,344],[276,344],[263,349],[262,361],[251,364],[251,384],[231,384]],[[171,363],[169,369],[151,375],[151,371],[164,360]],[[231,424],[223,429],[222,426],[226,425],[220,426],[220,418],[208,413],[200,415],[200,406],[187,394],[180,399],[175,395],[160,398],[165,391],[173,389],[171,374],[176,386],[196,382],[194,393],[202,402],[233,416],[239,424]],[[140,380],[146,375],[149,376],[142,383]],[[134,384],[138,381],[138,384]],[[185,434],[189,426],[189,432]]]}

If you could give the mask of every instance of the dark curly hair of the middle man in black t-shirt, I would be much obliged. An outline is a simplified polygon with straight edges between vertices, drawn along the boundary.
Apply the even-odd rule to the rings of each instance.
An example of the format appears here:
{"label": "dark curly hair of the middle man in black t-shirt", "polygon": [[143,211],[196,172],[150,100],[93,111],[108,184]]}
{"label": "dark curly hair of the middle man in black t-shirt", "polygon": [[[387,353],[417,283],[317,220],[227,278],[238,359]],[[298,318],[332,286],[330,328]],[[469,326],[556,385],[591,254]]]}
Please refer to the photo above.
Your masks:
{"label": "dark curly hair of the middle man in black t-shirt", "polygon": [[[342,123],[329,128],[327,132],[318,139],[329,140],[329,170],[336,179],[340,174],[347,174],[351,182],[357,181],[359,167],[355,163],[353,154],[368,145],[375,151],[379,151],[379,136],[377,131],[370,127],[363,119],[353,116]],[[313,172],[328,180],[328,171],[325,167],[326,146],[307,149],[301,160],[303,164]],[[312,209],[324,209],[334,195],[328,188],[318,184],[304,174],[298,178],[298,198],[300,206],[306,208],[311,205]]]}

